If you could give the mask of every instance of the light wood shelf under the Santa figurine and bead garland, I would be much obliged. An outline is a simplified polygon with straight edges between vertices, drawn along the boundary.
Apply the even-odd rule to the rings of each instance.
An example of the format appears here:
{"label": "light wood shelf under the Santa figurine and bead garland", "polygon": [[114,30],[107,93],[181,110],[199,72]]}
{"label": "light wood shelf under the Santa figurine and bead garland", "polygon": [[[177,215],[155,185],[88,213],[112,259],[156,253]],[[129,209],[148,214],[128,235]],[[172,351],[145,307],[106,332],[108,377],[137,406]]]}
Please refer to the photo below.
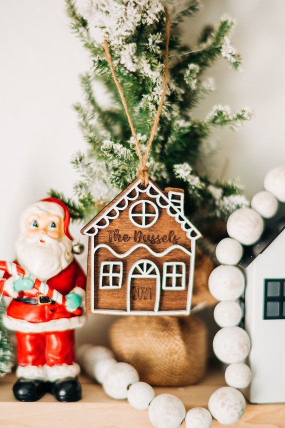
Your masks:
{"label": "light wood shelf under the Santa figurine and bead garland", "polygon": [[[109,398],[101,386],[81,375],[83,397],[75,403],[61,403],[49,393],[36,402],[19,402],[12,393],[14,374],[0,379],[0,426],[4,428],[153,428],[147,410],[136,410],[126,400]],[[222,369],[208,370],[197,384],[183,387],[155,387],[155,393],[178,396],[186,410],[207,407],[210,394],[223,386]],[[243,416],[231,425],[216,420],[212,428],[285,428],[285,404],[247,404]],[[181,428],[185,428],[183,422]]]}

